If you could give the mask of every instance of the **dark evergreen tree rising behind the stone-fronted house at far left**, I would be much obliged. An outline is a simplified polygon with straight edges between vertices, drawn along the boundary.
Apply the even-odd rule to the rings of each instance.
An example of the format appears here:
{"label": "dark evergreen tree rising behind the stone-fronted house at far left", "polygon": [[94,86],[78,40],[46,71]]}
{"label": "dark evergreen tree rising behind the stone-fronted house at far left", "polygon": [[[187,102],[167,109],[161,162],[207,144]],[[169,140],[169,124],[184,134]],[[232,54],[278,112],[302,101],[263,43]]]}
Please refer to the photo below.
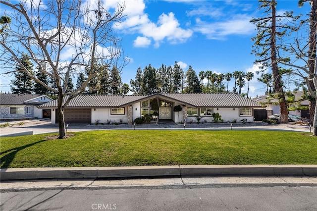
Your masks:
{"label": "dark evergreen tree rising behind the stone-fronted house at far left", "polygon": [[[21,63],[33,75],[33,63],[30,61],[29,56],[25,53],[22,54]],[[23,71],[21,65],[17,65],[14,72],[15,79],[12,80],[13,86],[11,87],[12,94],[32,94],[34,90],[33,80]]]}

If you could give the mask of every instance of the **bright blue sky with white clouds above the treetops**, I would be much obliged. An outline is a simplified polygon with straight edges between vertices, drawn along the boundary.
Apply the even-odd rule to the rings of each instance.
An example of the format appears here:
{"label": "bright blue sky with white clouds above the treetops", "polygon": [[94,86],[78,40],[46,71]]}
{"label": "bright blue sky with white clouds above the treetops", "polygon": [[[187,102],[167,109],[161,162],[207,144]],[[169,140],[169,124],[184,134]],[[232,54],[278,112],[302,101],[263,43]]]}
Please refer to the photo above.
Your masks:
{"label": "bright blue sky with white clouds above the treetops", "polygon": [[[105,5],[112,9],[116,2],[106,0]],[[297,2],[277,0],[277,11],[308,14],[309,5],[298,8]],[[254,64],[256,57],[251,54],[255,25],[249,22],[253,17],[263,16],[257,0],[126,0],[125,3],[126,16],[115,27],[122,38],[125,56],[130,59],[121,72],[123,83],[130,84],[138,67],[173,66],[175,61],[185,72],[191,65],[197,74],[207,70],[216,73],[259,70]],[[255,74],[250,83],[251,97],[264,95],[266,91],[257,77]],[[9,91],[3,80],[1,90]]]}

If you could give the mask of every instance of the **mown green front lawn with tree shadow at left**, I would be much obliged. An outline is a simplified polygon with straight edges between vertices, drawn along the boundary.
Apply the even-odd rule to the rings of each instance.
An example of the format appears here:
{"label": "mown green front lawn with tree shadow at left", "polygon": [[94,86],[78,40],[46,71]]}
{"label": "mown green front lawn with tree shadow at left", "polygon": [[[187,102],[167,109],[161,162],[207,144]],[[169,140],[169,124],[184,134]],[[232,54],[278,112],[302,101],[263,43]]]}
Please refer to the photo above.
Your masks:
{"label": "mown green front lawn with tree shadow at left", "polygon": [[1,138],[1,168],[196,164],[317,164],[303,132],[114,130]]}

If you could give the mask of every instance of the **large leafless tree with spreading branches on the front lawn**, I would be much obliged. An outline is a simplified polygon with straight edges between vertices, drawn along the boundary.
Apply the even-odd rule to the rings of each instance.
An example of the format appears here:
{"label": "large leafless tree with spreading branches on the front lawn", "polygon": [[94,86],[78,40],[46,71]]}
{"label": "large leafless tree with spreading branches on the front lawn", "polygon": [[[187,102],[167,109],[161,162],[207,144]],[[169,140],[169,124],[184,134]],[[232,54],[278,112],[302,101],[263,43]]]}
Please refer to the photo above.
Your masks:
{"label": "large leafless tree with spreading branches on the front lawn", "polygon": [[[89,1],[88,1],[89,2]],[[124,55],[120,40],[112,31],[120,23],[125,4],[117,4],[113,12],[107,11],[99,0],[95,5],[82,4],[80,0],[25,0],[19,3],[0,0],[2,10],[12,21],[7,33],[1,34],[1,69],[12,74],[21,63],[22,52],[30,55],[39,71],[56,82],[56,89],[33,76],[30,78],[58,95],[57,116],[59,138],[65,137],[64,109],[77,95],[85,91],[88,82],[100,71],[113,65],[121,68]],[[93,71],[94,64],[103,68]],[[120,66],[121,64],[121,66]],[[23,66],[23,65],[21,65]],[[76,90],[70,90],[67,80],[89,68],[87,80]],[[64,86],[63,86],[64,85]]]}

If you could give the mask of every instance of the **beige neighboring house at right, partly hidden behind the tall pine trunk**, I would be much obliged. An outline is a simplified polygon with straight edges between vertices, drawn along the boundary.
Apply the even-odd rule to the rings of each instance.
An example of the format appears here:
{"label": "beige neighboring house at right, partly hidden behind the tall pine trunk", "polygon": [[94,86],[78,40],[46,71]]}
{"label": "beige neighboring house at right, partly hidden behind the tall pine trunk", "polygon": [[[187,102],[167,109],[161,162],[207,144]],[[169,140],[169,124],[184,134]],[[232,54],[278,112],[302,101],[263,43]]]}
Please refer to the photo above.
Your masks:
{"label": "beige neighboring house at right, partly hidden behind the tall pine trunk", "polygon": [[[300,101],[302,99],[303,92],[297,92],[295,95],[295,101]],[[278,104],[278,99],[272,99],[269,97],[269,95],[260,96],[257,98],[252,99],[255,102],[258,102],[261,105],[266,106],[267,115],[277,114],[280,113],[280,108]],[[301,101],[301,106],[308,106],[309,101]],[[303,118],[309,118],[309,110],[289,110],[289,114],[301,116]]]}

